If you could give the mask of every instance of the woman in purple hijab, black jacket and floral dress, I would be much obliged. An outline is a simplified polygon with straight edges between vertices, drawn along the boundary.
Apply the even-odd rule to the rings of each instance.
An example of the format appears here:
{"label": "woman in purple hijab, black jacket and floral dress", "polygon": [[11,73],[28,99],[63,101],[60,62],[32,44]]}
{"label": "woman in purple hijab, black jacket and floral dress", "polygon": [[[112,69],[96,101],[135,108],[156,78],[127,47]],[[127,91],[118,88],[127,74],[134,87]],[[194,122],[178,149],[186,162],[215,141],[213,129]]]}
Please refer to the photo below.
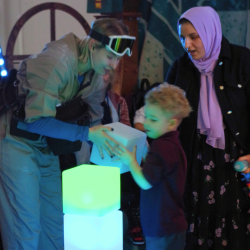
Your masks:
{"label": "woman in purple hijab, black jacket and floral dress", "polygon": [[247,250],[250,199],[233,164],[250,164],[250,50],[222,36],[210,7],[186,11],[178,33],[185,53],[166,81],[186,92],[193,109],[179,128],[188,159],[186,249]]}

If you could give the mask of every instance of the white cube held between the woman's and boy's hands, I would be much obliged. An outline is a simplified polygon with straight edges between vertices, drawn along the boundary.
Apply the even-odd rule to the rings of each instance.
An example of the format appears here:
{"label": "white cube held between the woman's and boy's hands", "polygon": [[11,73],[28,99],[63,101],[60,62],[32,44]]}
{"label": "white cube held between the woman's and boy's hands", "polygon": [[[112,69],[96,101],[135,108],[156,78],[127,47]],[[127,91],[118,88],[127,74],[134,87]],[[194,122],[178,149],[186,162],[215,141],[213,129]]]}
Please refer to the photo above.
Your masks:
{"label": "white cube held between the woman's and boy's hands", "polygon": [[[120,122],[106,124],[105,126],[114,128],[114,131],[108,131],[107,134],[114,138],[118,143],[121,143],[123,146],[125,146],[129,151],[133,151],[134,146],[137,145],[136,159],[140,165],[146,143],[146,133],[124,125]],[[112,144],[112,146],[114,146],[114,144]],[[98,148],[94,144],[90,161],[97,165],[118,167],[120,168],[121,174],[129,171],[129,167],[127,165],[120,161],[113,161],[114,159],[117,159],[117,157],[111,158],[105,150],[103,150],[103,153],[104,159],[101,158]]]}

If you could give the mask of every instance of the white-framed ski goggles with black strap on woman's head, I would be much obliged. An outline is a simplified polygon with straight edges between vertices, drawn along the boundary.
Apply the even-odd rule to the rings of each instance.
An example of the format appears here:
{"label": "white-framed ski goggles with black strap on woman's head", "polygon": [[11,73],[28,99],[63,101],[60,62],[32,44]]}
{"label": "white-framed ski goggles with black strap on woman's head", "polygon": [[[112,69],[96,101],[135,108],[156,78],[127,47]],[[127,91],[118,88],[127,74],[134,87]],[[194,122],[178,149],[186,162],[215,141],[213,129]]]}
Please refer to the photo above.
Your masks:
{"label": "white-framed ski goggles with black strap on woman's head", "polygon": [[92,29],[90,30],[89,36],[106,45],[108,50],[118,56],[123,56],[125,53],[127,53],[128,56],[132,55],[132,47],[135,40],[133,36],[106,36]]}

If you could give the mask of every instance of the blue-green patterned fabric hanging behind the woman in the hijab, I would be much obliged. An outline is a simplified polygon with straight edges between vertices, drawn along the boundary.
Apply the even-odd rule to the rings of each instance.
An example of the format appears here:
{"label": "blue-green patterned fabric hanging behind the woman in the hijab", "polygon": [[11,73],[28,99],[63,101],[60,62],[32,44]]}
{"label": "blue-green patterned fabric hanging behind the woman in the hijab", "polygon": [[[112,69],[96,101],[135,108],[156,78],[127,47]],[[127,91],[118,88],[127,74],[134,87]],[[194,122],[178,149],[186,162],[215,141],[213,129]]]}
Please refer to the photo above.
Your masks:
{"label": "blue-green patterned fabric hanging behind the woman in the hijab", "polygon": [[183,54],[177,20],[189,8],[211,6],[220,16],[230,43],[250,48],[250,0],[141,0],[139,22],[139,82],[163,82],[173,61]]}

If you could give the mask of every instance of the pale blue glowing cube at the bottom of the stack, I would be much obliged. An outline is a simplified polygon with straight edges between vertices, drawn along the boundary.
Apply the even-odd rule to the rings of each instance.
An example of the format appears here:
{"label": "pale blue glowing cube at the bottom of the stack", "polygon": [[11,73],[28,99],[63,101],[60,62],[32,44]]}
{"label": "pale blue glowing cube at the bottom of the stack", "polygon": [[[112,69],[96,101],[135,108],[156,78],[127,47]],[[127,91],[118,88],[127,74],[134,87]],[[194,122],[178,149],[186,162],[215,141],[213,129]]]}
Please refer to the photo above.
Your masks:
{"label": "pale blue glowing cube at the bottom of the stack", "polygon": [[122,212],[103,217],[64,215],[65,250],[122,250]]}

